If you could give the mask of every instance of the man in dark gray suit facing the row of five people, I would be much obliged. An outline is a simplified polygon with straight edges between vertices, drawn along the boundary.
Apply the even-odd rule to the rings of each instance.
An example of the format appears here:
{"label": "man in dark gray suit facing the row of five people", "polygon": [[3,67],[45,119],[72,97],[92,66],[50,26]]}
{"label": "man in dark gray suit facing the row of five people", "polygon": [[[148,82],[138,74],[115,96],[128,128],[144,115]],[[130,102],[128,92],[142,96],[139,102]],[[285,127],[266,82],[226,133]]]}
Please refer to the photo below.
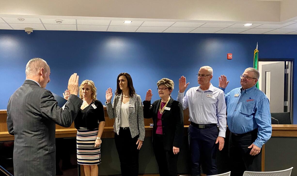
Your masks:
{"label": "man in dark gray suit facing the row of five people", "polygon": [[[7,105],[8,132],[15,135],[13,167],[15,176],[56,175],[55,124],[69,127],[82,100],[78,98],[78,75],[72,74],[70,96],[64,110],[46,90],[50,67],[41,58],[29,60],[26,80],[10,97]],[[65,146],[66,147],[66,146]]]}

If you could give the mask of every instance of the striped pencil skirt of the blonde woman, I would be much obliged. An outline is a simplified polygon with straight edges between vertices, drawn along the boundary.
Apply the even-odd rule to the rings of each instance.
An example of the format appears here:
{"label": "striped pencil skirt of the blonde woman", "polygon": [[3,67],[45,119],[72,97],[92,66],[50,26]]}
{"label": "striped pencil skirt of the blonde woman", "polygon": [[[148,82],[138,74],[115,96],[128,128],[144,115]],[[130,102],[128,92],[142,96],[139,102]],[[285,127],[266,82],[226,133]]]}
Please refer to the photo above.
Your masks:
{"label": "striped pencil skirt of the blonde woman", "polygon": [[98,128],[87,130],[80,128],[76,134],[77,163],[84,165],[95,165],[101,163],[100,146],[95,146]]}

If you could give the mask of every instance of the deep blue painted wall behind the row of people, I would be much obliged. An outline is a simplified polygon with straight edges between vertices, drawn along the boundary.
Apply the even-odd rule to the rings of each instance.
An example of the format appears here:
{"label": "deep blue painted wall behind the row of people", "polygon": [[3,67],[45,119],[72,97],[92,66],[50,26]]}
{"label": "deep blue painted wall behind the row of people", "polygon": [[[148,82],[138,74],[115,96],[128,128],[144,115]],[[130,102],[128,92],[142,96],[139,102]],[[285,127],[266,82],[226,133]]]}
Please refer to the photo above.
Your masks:
{"label": "deep blue painted wall behind the row of people", "polygon": [[[6,109],[10,95],[23,84],[26,63],[33,57],[48,62],[51,81],[47,89],[61,96],[69,76],[77,72],[80,82],[95,82],[97,98],[105,102],[105,90],[111,87],[114,91],[117,75],[128,72],[137,94],[144,100],[146,91],[152,89],[152,100],[156,100],[158,80],[172,79],[176,98],[178,78],[184,75],[189,87],[198,86],[195,75],[205,65],[214,69],[214,86],[219,75],[225,74],[230,80],[226,91],[240,87],[239,75],[253,66],[257,42],[259,58],[297,58],[297,35],[78,31],[34,31],[26,35],[19,30],[0,30],[0,109]],[[226,59],[227,53],[233,53],[232,60]],[[296,106],[294,112],[297,124]]]}

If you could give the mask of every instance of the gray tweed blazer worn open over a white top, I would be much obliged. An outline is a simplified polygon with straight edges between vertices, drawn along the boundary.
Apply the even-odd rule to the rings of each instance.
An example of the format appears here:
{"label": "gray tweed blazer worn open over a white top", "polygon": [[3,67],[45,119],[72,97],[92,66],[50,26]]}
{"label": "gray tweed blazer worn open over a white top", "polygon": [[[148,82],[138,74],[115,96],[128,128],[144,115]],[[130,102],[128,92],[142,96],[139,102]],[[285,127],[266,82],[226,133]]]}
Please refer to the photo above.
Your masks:
{"label": "gray tweed blazer worn open over a white top", "polygon": [[[110,119],[115,118],[113,131],[119,135],[121,121],[122,93],[113,97],[113,102],[106,103],[106,110]],[[145,137],[143,107],[141,97],[134,94],[129,97],[128,122],[132,138],[139,134],[139,140]]]}

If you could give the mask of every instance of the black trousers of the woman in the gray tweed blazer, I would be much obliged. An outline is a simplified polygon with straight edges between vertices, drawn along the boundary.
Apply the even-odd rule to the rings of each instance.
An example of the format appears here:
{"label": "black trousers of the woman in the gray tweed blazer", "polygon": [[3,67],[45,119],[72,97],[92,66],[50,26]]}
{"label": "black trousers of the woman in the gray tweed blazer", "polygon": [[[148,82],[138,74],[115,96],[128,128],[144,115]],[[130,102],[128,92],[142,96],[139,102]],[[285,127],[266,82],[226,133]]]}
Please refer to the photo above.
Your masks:
{"label": "black trousers of the woman in the gray tweed blazer", "polygon": [[119,154],[121,163],[122,176],[137,176],[138,175],[138,156],[136,142],[139,135],[132,138],[130,130],[120,129],[119,135],[114,134],[114,141],[116,143],[116,150]]}

